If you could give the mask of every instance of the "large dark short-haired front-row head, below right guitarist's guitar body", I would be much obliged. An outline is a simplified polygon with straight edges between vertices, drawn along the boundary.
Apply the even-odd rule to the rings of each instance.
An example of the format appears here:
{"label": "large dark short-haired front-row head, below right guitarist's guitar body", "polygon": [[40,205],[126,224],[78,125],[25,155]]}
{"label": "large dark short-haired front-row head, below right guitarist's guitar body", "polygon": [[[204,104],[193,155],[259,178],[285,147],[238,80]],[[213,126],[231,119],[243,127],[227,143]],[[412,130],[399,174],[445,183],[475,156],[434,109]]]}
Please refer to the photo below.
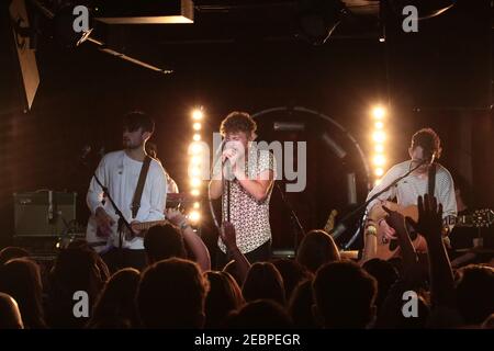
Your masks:
{"label": "large dark short-haired front-row head, below right guitarist's guitar body", "polygon": [[364,328],[372,319],[378,284],[357,263],[323,265],[313,283],[317,310],[328,328]]}

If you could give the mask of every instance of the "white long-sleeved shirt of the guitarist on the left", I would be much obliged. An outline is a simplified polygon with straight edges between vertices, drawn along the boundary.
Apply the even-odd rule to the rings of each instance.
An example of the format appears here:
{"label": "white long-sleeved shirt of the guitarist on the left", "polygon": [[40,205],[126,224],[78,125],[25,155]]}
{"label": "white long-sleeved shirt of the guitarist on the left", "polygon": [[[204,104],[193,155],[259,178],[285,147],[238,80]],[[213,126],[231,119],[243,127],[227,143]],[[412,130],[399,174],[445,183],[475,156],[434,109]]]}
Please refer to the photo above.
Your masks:
{"label": "white long-sleeved shirt of the guitarist on the left", "polygon": [[[156,160],[151,160],[147,172],[146,182],[141,197],[141,207],[135,218],[132,218],[132,200],[134,197],[137,181],[143,162],[130,158],[124,150],[106,154],[101,160],[96,174],[108,188],[116,206],[122,211],[125,219],[131,223],[151,222],[165,219],[165,204],[167,197],[167,179],[165,170]],[[91,211],[90,224],[94,225],[94,213],[98,207],[103,207],[115,222],[117,216],[110,201],[103,201],[103,191],[96,179],[91,180],[87,194],[87,203]],[[101,240],[101,238],[100,238]],[[108,239],[109,245],[119,247],[120,235],[113,233]],[[88,238],[89,241],[89,238]],[[123,239],[123,248],[144,249],[143,238],[134,238],[130,241]]]}

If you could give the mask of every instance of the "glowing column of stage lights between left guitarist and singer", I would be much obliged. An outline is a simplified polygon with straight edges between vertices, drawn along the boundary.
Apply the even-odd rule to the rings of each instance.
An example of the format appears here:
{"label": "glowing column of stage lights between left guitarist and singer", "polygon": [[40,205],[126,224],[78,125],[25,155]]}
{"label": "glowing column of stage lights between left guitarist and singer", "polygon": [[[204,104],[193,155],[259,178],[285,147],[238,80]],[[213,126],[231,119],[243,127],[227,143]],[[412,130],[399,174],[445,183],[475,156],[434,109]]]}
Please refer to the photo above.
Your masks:
{"label": "glowing column of stage lights between left guitarist and singer", "polygon": [[192,141],[189,144],[189,185],[190,194],[198,197],[198,201],[193,203],[191,211],[189,212],[189,219],[192,223],[198,223],[201,219],[201,203],[199,197],[201,196],[201,188],[203,181],[201,180],[201,169],[202,169],[202,121],[204,120],[204,112],[202,107],[195,109],[191,113],[192,120]]}

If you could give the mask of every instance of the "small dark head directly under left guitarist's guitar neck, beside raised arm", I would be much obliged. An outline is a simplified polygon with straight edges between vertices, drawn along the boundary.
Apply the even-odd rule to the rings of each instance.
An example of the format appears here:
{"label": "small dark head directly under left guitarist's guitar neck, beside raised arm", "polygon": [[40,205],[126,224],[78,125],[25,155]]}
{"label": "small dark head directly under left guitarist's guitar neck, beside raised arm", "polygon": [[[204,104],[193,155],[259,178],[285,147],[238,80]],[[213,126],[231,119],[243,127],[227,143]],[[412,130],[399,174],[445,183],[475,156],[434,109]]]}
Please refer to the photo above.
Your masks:
{"label": "small dark head directly under left guitarist's guitar neck, beside raised arm", "polygon": [[149,263],[172,257],[187,258],[182,235],[170,224],[151,227],[144,237],[144,249]]}

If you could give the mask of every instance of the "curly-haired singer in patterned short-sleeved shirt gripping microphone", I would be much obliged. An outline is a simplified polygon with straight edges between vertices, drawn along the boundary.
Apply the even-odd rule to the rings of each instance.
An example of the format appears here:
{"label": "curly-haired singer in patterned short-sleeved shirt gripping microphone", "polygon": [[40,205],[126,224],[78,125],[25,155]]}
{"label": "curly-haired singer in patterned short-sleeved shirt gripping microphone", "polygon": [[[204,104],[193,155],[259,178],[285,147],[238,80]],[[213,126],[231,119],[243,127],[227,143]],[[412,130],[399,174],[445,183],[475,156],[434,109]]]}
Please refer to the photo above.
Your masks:
{"label": "curly-haired singer in patterned short-sleeved shirt gripping microphone", "polygon": [[[213,174],[209,188],[210,199],[222,197],[223,222],[234,225],[237,247],[251,263],[271,256],[269,201],[276,177],[273,155],[252,144],[256,128],[245,112],[232,112],[223,120],[223,167],[215,167],[222,174]],[[216,267],[222,268],[231,252],[221,238],[217,244]]]}

